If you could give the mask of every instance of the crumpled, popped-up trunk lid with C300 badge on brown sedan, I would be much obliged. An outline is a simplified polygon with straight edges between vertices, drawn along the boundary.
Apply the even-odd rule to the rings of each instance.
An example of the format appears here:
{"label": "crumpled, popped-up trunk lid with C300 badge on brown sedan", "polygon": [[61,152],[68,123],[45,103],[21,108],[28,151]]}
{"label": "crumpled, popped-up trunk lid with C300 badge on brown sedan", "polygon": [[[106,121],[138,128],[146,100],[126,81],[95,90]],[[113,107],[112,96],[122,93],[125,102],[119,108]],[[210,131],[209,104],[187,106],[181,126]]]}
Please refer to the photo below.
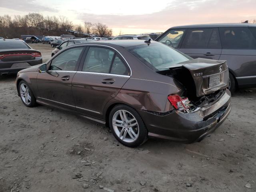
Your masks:
{"label": "crumpled, popped-up trunk lid with C300 badge on brown sedan", "polygon": [[227,88],[229,83],[226,61],[197,58],[173,66],[170,72],[190,96],[208,95]]}

